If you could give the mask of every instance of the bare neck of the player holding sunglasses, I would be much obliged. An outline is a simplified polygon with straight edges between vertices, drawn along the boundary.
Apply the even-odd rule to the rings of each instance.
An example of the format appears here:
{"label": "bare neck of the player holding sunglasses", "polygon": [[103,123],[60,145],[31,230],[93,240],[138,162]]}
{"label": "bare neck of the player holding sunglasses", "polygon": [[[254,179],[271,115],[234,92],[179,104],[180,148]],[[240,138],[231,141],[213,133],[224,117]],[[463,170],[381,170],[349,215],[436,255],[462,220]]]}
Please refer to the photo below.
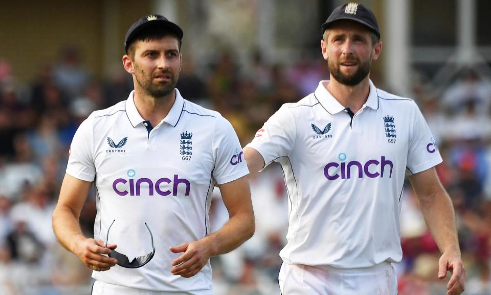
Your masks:
{"label": "bare neck of the player holding sunglasses", "polygon": [[142,89],[135,88],[135,107],[143,119],[150,121],[153,127],[169,114],[175,101],[175,89],[163,97],[155,98]]}

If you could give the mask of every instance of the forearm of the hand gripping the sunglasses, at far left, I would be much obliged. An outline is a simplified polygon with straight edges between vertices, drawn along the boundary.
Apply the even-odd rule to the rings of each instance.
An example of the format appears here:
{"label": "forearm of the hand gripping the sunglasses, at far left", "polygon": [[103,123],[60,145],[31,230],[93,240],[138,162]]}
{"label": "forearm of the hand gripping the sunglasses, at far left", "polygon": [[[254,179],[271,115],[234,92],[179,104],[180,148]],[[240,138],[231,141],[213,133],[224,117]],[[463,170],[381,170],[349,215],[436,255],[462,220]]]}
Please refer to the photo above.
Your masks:
{"label": "forearm of the hand gripping the sunglasses, at far left", "polygon": [[85,239],[80,229],[78,216],[68,206],[58,205],[53,212],[53,230],[58,241],[67,250],[75,253],[78,241]]}

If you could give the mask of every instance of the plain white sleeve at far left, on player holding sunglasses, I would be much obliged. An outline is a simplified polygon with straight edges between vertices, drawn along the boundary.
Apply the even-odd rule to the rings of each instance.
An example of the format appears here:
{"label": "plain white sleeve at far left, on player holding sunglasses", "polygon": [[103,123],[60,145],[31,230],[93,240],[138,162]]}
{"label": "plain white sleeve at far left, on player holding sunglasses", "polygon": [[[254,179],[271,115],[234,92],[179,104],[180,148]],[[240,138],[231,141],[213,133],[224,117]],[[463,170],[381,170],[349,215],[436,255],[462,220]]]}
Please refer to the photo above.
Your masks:
{"label": "plain white sleeve at far left, on player holding sunglasses", "polygon": [[73,137],[66,166],[66,173],[85,181],[94,181],[96,176],[93,133],[92,120],[89,117],[80,124]]}

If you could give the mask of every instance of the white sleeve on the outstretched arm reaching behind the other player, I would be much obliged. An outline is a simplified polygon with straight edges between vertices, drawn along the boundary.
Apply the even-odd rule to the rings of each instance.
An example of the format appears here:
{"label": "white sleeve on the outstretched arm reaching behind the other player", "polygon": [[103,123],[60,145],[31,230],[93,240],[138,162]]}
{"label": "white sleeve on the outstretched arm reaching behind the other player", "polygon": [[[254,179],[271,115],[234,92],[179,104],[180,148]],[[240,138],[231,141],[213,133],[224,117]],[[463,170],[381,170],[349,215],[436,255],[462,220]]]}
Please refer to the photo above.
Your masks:
{"label": "white sleeve on the outstretched arm reaching behind the other player", "polygon": [[296,137],[295,117],[284,104],[271,116],[246,145],[261,154],[265,166],[276,159],[288,156],[293,149]]}

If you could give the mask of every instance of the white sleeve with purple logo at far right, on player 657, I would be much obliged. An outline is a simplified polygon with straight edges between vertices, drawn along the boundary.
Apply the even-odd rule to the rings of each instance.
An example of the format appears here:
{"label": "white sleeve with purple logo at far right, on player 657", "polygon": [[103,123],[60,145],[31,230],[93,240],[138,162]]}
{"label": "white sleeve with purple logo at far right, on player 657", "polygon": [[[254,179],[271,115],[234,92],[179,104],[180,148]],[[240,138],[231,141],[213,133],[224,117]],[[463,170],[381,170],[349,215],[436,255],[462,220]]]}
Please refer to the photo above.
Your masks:
{"label": "white sleeve with purple logo at far right, on player 657", "polygon": [[410,130],[407,168],[409,174],[425,171],[442,162],[430,128],[415,105]]}

